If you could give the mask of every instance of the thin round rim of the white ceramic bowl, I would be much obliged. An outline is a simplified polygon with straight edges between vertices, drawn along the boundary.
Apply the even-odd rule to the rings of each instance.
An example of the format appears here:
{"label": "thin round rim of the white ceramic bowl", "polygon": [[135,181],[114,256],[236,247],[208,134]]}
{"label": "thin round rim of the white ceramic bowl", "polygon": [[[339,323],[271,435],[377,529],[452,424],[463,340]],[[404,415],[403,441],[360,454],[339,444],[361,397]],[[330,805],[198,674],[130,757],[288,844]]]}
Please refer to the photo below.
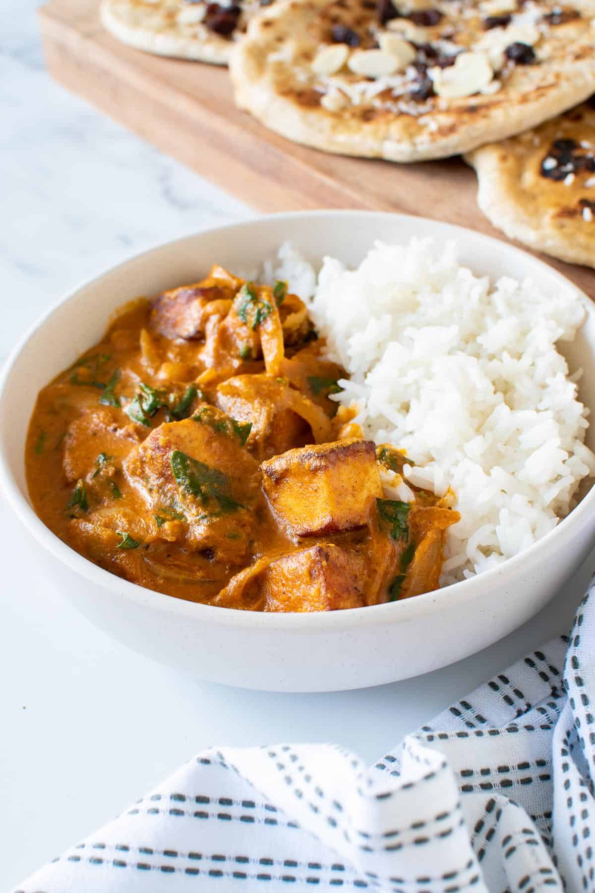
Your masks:
{"label": "thin round rim of the white ceramic bowl", "polygon": [[[590,298],[583,292],[581,288],[574,285],[574,282],[567,279],[563,273],[550,266],[549,263],[535,257],[530,253],[509,245],[503,239],[488,236],[485,233],[469,230],[466,227],[444,221],[435,221],[430,218],[417,217],[411,214],[391,213],[381,211],[367,210],[351,210],[351,209],[318,209],[313,211],[294,211],[281,212],[273,214],[263,214],[255,218],[248,217],[241,221],[222,224],[217,227],[206,227],[197,230],[186,236],[169,239],[166,242],[157,242],[143,251],[131,255],[126,260],[121,261],[98,274],[92,275],[79,283],[75,288],[69,288],[67,292],[62,294],[56,301],[48,307],[37,321],[35,321],[29,329],[25,331],[18,343],[12,348],[8,355],[2,370],[0,371],[0,407],[4,402],[4,392],[10,375],[15,364],[21,355],[21,352],[27,346],[29,339],[32,338],[39,330],[42,330],[45,323],[54,315],[54,313],[62,307],[76,301],[82,292],[91,286],[100,285],[101,281],[116,271],[121,271],[128,265],[139,263],[149,257],[149,255],[157,254],[160,251],[167,251],[172,246],[183,246],[185,242],[192,243],[196,238],[201,236],[213,236],[223,233],[233,233],[235,230],[242,230],[251,225],[258,224],[262,221],[276,221],[279,224],[285,221],[299,220],[302,218],[349,218],[359,221],[366,218],[386,218],[394,220],[400,219],[402,222],[426,221],[433,227],[442,230],[445,235],[451,235],[452,238],[463,238],[469,233],[473,234],[474,239],[483,241],[489,249],[491,246],[498,246],[499,250],[504,247],[509,255],[522,256],[524,259],[528,256],[531,261],[538,267],[547,271],[553,280],[558,280],[560,286],[564,288],[572,288],[576,295],[580,296],[587,313],[595,317],[595,306]],[[282,236],[279,237],[279,243],[283,241]],[[595,351],[594,351],[595,353]],[[555,528],[550,530],[544,537],[539,539],[532,546],[523,552],[513,555],[500,565],[491,568],[481,574],[471,577],[467,580],[460,580],[452,583],[448,587],[436,589],[433,592],[427,592],[415,598],[408,598],[402,601],[386,602],[383,605],[369,605],[368,607],[350,608],[343,611],[327,611],[316,613],[267,613],[244,611],[237,608],[222,609],[215,605],[203,605],[200,602],[187,601],[185,599],[171,597],[164,593],[157,592],[132,583],[128,580],[116,576],[115,574],[103,570],[93,562],[89,561],[83,555],[79,555],[74,549],[68,546],[62,539],[58,538],[44,522],[37,516],[33,507],[29,505],[29,501],[21,493],[21,489],[16,483],[7,456],[5,455],[4,437],[0,432],[0,488],[4,490],[4,494],[8,499],[12,509],[20,518],[24,526],[29,530],[32,536],[37,540],[40,546],[44,547],[60,562],[64,563],[70,570],[74,571],[83,580],[90,580],[99,588],[108,588],[112,592],[129,600],[136,602],[138,605],[144,605],[161,613],[169,613],[179,618],[188,618],[201,622],[208,622],[211,626],[218,627],[235,627],[245,630],[253,630],[255,628],[264,628],[265,630],[284,630],[294,634],[310,634],[312,631],[339,631],[350,630],[357,626],[385,626],[394,622],[409,622],[417,619],[434,610],[441,610],[442,606],[461,605],[468,601],[473,601],[477,597],[481,597],[490,590],[492,581],[496,582],[501,578],[503,583],[506,580],[514,580],[515,572],[521,564],[530,562],[533,565],[541,563],[541,557],[550,552],[552,540],[558,540],[566,536],[571,539],[573,530],[578,529],[585,516],[591,514],[591,506],[595,505],[595,486],[591,487],[585,494],[579,505],[563,518]]]}

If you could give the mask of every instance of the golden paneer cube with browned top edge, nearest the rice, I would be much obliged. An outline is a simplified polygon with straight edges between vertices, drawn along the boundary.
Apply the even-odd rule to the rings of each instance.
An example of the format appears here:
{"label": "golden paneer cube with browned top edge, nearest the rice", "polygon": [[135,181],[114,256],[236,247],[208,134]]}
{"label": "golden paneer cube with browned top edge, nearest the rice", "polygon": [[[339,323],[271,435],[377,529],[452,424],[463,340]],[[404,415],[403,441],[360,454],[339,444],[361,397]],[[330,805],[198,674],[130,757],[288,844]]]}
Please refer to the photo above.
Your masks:
{"label": "golden paneer cube with browned top edge, nearest the rice", "polygon": [[383,493],[371,440],[292,449],[260,469],[269,505],[293,537],[361,527],[368,521],[370,500]]}

